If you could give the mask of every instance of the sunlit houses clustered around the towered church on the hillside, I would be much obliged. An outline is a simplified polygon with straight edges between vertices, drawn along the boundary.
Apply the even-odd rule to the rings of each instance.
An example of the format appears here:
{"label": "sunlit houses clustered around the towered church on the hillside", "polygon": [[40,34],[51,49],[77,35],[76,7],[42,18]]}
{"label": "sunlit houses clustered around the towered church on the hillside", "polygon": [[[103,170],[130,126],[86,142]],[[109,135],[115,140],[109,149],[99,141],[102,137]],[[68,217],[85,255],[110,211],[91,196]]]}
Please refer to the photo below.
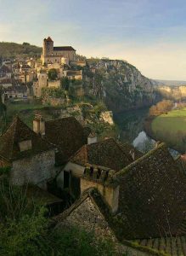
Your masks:
{"label": "sunlit houses clustered around the towered church on the hillside", "polygon": [[[33,57],[28,60],[3,60],[0,66],[3,102],[29,97],[41,98],[42,88],[60,88],[63,78],[77,80],[81,85],[82,70],[74,70],[71,65],[84,67],[86,62],[78,60],[76,50],[71,46],[54,47],[54,41],[50,37],[43,40],[40,59]],[[54,80],[48,78],[51,69],[57,73]]]}

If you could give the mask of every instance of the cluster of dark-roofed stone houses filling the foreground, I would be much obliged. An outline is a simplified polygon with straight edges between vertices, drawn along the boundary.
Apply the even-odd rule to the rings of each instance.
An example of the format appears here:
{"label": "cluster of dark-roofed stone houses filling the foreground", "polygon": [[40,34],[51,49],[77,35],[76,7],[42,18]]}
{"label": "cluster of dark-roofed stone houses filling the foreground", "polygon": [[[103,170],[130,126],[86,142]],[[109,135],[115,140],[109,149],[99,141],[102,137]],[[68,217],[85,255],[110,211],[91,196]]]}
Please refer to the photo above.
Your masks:
{"label": "cluster of dark-roofed stone houses filling the foreground", "polygon": [[13,184],[48,193],[55,181],[77,200],[54,217],[58,229],[77,224],[114,241],[185,253],[185,162],[164,143],[142,154],[114,138],[98,142],[73,117],[37,115],[31,130],[16,116],[0,137],[0,166],[10,167]]}

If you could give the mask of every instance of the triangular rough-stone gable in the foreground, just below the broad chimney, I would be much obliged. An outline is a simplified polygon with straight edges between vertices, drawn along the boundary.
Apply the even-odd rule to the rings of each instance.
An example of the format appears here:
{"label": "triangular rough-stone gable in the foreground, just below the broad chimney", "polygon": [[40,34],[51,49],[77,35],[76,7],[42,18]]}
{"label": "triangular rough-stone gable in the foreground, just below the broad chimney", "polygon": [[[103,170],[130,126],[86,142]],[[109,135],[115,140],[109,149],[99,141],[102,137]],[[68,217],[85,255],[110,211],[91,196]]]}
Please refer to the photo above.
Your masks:
{"label": "triangular rough-stone gable in the foreground, just below the broad chimney", "polygon": [[[98,200],[101,203],[99,207]],[[116,238],[110,230],[110,226],[101,212],[101,208],[109,212],[104,200],[96,189],[87,189],[79,200],[77,200],[69,209],[53,218],[55,229],[63,229],[63,225],[76,225],[87,231],[96,232],[97,236]]]}

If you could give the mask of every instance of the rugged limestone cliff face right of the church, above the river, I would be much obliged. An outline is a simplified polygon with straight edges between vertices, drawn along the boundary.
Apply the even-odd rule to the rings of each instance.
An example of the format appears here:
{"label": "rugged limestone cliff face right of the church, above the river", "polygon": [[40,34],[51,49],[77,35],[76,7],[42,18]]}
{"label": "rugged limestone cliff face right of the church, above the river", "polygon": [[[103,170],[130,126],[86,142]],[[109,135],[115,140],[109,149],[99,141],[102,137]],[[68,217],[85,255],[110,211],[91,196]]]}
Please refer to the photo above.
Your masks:
{"label": "rugged limestone cliff face right of the church, above the river", "polygon": [[83,86],[85,95],[99,97],[115,113],[147,107],[160,100],[152,81],[125,61],[87,60]]}

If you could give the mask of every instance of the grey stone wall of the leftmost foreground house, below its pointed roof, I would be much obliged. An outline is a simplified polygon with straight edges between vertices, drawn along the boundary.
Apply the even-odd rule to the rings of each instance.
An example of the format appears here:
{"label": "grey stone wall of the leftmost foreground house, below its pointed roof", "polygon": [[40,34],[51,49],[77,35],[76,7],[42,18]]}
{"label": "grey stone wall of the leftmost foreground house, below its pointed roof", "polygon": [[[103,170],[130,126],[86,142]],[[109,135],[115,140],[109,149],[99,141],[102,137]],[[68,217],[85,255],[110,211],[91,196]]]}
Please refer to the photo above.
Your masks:
{"label": "grey stone wall of the leftmost foreground house, below its pointed roof", "polygon": [[54,164],[54,150],[15,160],[10,172],[11,182],[17,185],[40,184],[43,188],[47,180],[55,176]]}

